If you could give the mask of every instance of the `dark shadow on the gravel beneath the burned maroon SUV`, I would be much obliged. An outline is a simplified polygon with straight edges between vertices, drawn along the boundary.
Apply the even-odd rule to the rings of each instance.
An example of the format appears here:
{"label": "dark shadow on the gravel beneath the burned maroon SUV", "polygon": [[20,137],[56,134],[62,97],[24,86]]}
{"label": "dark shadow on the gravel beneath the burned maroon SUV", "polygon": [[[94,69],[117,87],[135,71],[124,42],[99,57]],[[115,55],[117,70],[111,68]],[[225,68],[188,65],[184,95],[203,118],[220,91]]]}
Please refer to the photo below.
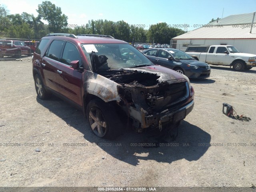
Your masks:
{"label": "dark shadow on the gravel beneath the burned maroon SUV", "polygon": [[[176,160],[198,160],[209,148],[210,134],[201,128],[183,121],[178,128],[178,136],[175,141],[166,133],[147,131],[138,134],[127,128],[126,133],[116,140],[104,140],[95,136],[85,119],[83,112],[73,108],[66,102],[53,96],[50,100],[37,102],[47,108],[51,113],[59,116],[70,127],[84,134],[84,138],[91,143],[97,144],[102,150],[114,158],[136,166],[140,160],[155,160],[157,162],[172,163]],[[172,130],[171,134],[176,134]],[[202,146],[206,145],[206,146]]]}

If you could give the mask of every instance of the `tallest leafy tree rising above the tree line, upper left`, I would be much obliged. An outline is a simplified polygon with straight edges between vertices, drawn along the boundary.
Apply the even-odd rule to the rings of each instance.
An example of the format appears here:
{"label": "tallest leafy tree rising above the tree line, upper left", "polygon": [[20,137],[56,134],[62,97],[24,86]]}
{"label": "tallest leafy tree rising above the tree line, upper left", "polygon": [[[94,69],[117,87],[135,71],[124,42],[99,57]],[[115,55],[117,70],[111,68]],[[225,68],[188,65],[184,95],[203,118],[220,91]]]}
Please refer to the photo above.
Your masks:
{"label": "tallest leafy tree rising above the tree line, upper left", "polygon": [[62,14],[61,8],[50,1],[44,1],[39,4],[36,11],[40,19],[43,18],[48,22],[50,32],[62,32],[68,25],[68,16]]}

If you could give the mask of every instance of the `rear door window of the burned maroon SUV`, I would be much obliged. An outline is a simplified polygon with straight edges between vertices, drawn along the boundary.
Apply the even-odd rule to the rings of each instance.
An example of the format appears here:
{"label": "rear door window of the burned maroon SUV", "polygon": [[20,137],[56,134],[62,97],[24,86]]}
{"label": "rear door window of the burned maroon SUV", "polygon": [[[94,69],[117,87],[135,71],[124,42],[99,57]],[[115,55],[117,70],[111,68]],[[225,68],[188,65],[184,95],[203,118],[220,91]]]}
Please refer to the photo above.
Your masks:
{"label": "rear door window of the burned maroon SUV", "polygon": [[48,49],[46,57],[56,61],[60,61],[60,53],[61,53],[63,44],[64,44],[64,41],[54,40]]}

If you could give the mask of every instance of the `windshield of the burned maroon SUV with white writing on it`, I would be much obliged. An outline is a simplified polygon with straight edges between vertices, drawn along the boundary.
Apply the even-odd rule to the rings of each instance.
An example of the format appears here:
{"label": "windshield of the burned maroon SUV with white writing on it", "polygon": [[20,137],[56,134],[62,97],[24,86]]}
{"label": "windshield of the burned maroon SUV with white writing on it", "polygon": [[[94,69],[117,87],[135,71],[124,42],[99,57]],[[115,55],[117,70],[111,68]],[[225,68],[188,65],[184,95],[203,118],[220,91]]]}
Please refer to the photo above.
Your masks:
{"label": "windshield of the burned maroon SUV with white writing on it", "polygon": [[130,44],[81,44],[81,47],[92,69],[100,72],[154,65]]}

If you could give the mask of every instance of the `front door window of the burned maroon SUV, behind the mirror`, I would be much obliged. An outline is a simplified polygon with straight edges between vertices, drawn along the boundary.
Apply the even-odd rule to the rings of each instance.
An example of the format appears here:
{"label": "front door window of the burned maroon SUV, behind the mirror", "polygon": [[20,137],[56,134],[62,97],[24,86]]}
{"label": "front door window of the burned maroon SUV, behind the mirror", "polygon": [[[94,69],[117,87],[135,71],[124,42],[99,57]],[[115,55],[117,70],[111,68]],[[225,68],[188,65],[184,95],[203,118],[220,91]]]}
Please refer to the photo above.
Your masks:
{"label": "front door window of the burned maroon SUV, behind the mirror", "polygon": [[79,60],[81,65],[81,56],[76,48],[76,46],[70,42],[66,42],[61,62],[69,65],[71,61]]}

